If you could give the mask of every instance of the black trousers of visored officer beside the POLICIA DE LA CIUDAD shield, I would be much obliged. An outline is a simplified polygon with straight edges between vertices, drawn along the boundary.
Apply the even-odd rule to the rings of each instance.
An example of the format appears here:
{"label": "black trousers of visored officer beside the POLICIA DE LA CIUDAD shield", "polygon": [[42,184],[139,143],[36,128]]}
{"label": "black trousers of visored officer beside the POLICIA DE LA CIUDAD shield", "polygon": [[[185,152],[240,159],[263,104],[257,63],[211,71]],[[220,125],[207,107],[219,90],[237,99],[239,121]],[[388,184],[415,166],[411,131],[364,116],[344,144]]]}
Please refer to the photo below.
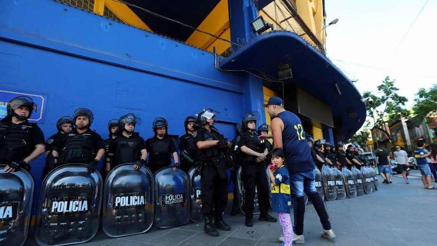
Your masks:
{"label": "black trousers of visored officer beside the POLICIA DE LA CIUDAD shield", "polygon": [[223,214],[227,203],[226,167],[203,166],[200,183],[202,186],[202,214],[213,215],[214,213],[216,216]]}

